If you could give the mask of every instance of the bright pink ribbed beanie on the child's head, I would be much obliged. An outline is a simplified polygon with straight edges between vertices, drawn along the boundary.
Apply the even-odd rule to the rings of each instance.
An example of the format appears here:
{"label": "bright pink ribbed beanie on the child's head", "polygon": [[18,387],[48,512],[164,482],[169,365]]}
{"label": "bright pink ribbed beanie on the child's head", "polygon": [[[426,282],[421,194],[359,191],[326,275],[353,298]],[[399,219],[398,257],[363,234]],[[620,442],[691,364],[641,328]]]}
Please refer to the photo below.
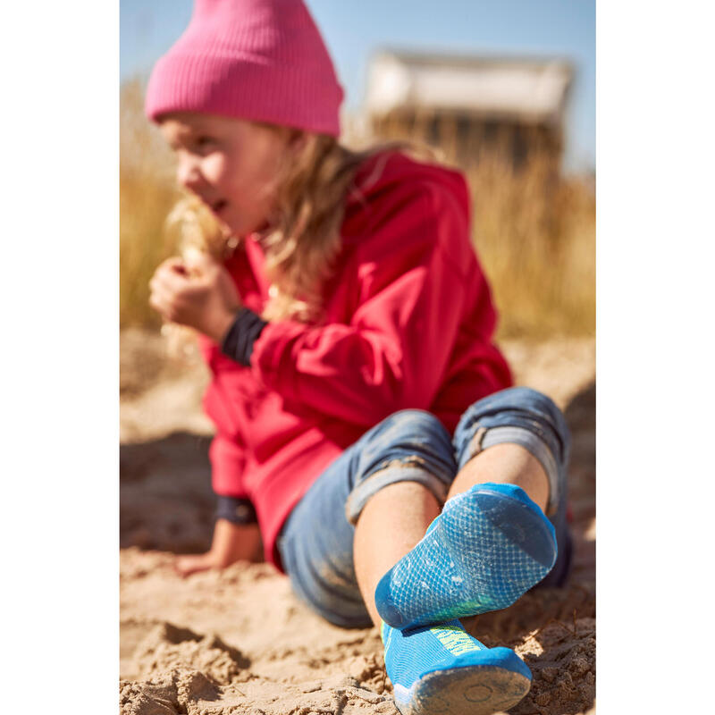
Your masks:
{"label": "bright pink ribbed beanie on the child's head", "polygon": [[151,73],[145,109],[340,135],[343,91],[303,0],[196,0]]}

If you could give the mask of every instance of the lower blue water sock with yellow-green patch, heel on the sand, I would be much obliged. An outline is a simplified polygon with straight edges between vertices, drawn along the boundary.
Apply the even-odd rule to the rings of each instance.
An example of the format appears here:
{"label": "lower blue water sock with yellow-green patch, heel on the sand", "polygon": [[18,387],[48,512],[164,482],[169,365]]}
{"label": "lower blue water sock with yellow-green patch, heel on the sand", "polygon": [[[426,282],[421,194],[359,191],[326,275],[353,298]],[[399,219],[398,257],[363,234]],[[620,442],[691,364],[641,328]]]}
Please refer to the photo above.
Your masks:
{"label": "lower blue water sock with yellow-green patch, heel on the sand", "polygon": [[528,693],[531,671],[509,648],[487,648],[458,620],[400,631],[383,623],[385,669],[402,715],[482,715]]}

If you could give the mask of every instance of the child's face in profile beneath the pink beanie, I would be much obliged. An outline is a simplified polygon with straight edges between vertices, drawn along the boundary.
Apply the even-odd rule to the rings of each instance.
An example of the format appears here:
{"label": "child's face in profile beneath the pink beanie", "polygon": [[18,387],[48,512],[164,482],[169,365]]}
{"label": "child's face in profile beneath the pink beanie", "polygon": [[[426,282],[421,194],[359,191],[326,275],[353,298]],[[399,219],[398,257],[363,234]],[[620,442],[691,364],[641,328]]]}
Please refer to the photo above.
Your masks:
{"label": "child's face in profile beneath the pink beanie", "polygon": [[178,159],[177,181],[196,194],[235,236],[263,227],[273,210],[273,183],[288,140],[240,119],[169,114],[164,139]]}

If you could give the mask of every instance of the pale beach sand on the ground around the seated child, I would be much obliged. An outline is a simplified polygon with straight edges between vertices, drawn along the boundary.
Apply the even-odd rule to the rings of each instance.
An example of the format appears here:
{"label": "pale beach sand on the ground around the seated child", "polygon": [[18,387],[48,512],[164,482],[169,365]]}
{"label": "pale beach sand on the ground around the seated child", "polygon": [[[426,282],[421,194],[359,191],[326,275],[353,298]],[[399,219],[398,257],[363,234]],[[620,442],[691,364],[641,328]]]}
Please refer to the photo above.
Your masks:
{"label": "pale beach sand on the ground around the seated child", "polygon": [[[464,622],[484,644],[514,648],[532,670],[531,691],[510,712],[592,712],[593,341],[502,347],[517,383],[548,392],[566,411],[576,566],[568,588],[527,593],[507,610]],[[122,715],[397,713],[376,629],[326,623],[268,564],[185,579],[173,571],[174,553],[202,551],[210,540],[205,384],[195,354],[167,360],[160,337],[122,333]]]}

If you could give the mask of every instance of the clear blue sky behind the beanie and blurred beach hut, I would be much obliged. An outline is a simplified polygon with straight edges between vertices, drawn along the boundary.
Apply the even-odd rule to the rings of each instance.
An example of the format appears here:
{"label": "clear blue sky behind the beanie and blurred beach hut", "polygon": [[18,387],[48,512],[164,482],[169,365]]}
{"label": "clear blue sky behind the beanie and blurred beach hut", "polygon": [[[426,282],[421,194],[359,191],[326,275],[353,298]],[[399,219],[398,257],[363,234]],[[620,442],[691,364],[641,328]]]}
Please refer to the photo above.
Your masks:
{"label": "clear blue sky behind the beanie and blurred beach hut", "polygon": [[[484,55],[546,55],[576,69],[567,117],[566,164],[595,164],[595,0],[306,0],[357,108],[378,47]],[[189,22],[191,0],[121,0],[122,80],[147,74]]]}

